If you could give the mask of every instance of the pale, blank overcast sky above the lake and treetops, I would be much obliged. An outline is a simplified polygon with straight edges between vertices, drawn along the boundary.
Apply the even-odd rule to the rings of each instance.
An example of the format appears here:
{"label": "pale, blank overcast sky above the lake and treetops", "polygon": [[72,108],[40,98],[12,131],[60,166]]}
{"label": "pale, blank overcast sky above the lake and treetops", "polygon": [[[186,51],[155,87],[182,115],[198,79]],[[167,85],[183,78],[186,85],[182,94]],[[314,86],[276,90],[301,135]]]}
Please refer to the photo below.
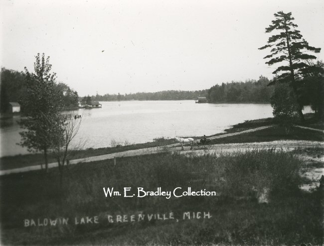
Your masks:
{"label": "pale, blank overcast sky above the lake and treetops", "polygon": [[80,96],[270,79],[269,51],[258,48],[280,10],[324,60],[324,0],[1,0],[0,8],[1,67],[32,71],[44,52]]}

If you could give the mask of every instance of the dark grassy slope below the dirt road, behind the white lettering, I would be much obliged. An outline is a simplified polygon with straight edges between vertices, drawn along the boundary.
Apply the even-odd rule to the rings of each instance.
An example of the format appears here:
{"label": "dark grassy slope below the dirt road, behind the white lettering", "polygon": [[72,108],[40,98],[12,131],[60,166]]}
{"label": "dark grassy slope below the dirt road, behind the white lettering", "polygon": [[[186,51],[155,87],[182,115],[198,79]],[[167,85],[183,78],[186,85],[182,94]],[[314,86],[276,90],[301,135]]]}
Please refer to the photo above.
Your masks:
{"label": "dark grassy slope below the dirt road, behind the white lettering", "polygon": [[[48,175],[35,171],[2,176],[1,241],[4,245],[321,245],[323,191],[299,189],[301,168],[292,153],[253,150],[191,157],[160,153],[121,158],[116,166],[112,160],[77,164],[66,171],[63,187],[56,168]],[[117,191],[191,187],[216,191],[217,196],[106,198],[103,187]],[[265,188],[270,202],[259,203]],[[183,219],[186,212],[191,212],[190,219]],[[193,219],[192,212],[211,217]],[[132,215],[170,213],[174,219],[130,221]],[[128,222],[116,222],[124,215]],[[80,224],[86,216],[98,216],[98,224]],[[25,219],[37,224],[44,218],[69,218],[69,223],[25,227]]]}

